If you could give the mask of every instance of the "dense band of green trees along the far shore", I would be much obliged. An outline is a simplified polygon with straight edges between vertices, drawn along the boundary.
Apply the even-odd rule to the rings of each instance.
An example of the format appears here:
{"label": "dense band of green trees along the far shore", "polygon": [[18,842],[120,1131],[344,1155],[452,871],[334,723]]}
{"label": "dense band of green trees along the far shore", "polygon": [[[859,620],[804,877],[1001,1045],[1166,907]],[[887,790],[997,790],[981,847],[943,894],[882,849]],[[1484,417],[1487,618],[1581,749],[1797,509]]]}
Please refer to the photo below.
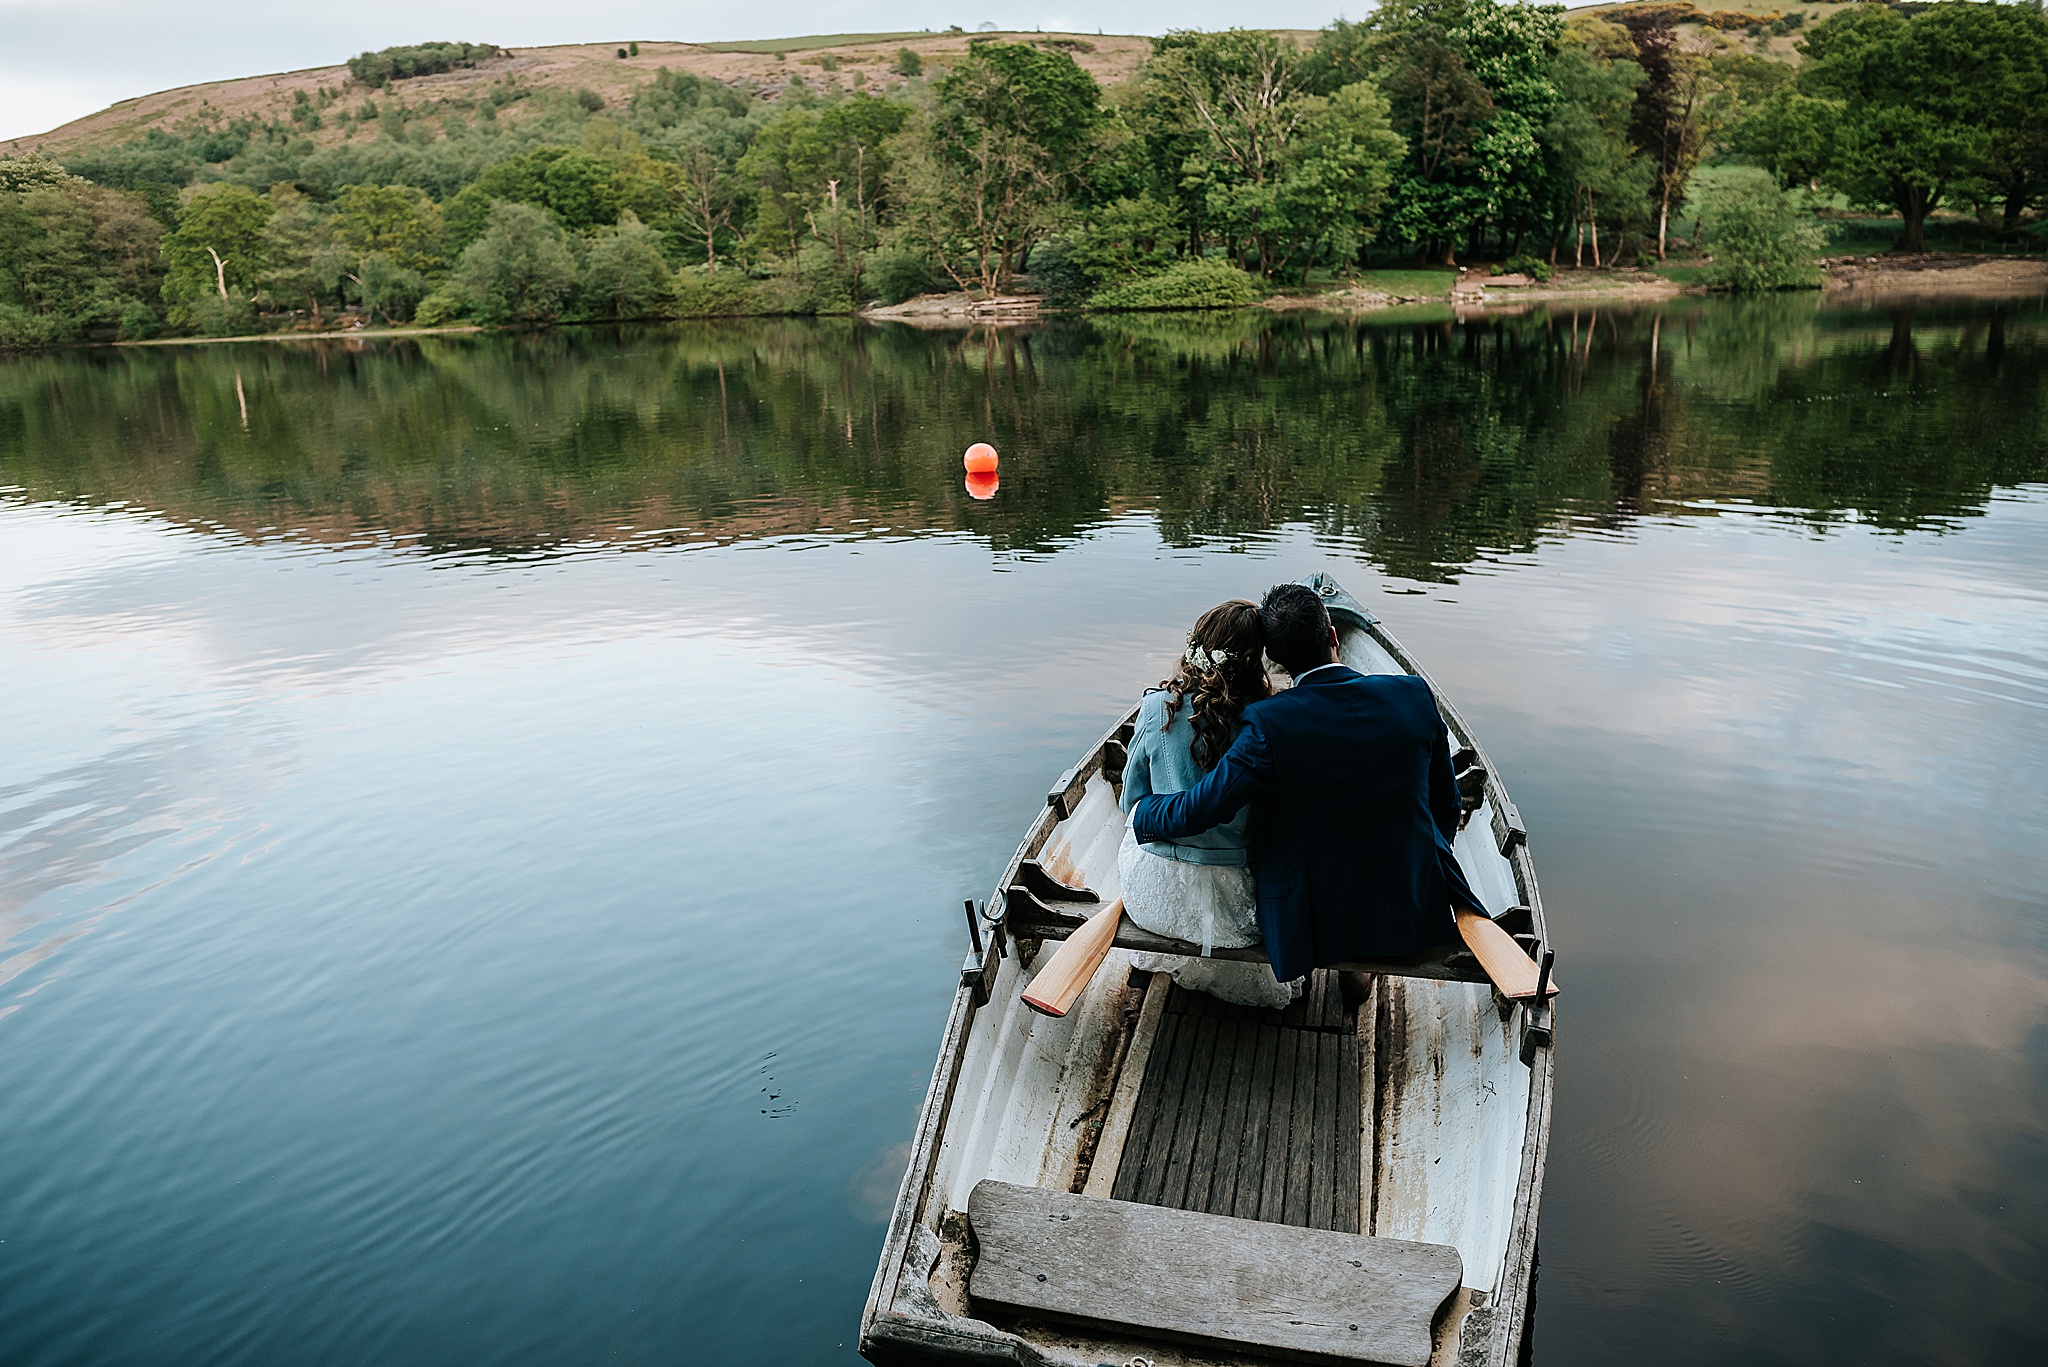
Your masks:
{"label": "dense band of green trees along the far shore", "polygon": [[[1745,29],[1800,31],[1804,61]],[[1169,33],[1108,90],[1057,39],[987,39],[891,96],[664,70],[623,107],[512,76],[408,100],[494,51],[365,53],[289,119],[0,160],[0,344],[850,312],[1020,275],[1217,305],[1372,260],[1655,264],[1683,217],[1716,279],[1774,287],[1812,271],[1812,203],[1896,211],[1919,250],[1937,209],[2015,238],[2048,193],[2048,20],[1972,0],[1817,25],[1386,0],[1309,45]]]}

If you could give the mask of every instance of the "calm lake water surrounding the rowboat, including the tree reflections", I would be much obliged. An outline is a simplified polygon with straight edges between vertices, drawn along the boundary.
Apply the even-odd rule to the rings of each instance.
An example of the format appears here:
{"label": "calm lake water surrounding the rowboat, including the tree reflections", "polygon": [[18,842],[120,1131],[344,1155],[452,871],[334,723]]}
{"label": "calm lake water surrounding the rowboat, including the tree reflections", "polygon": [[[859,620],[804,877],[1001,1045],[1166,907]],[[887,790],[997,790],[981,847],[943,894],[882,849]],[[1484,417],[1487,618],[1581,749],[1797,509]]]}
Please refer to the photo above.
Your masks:
{"label": "calm lake water surrounding the rowboat, including the tree reflections", "polygon": [[1810,295],[0,361],[0,1361],[852,1363],[961,900],[1311,570],[1530,826],[1536,1361],[2042,1361],[2048,309]]}

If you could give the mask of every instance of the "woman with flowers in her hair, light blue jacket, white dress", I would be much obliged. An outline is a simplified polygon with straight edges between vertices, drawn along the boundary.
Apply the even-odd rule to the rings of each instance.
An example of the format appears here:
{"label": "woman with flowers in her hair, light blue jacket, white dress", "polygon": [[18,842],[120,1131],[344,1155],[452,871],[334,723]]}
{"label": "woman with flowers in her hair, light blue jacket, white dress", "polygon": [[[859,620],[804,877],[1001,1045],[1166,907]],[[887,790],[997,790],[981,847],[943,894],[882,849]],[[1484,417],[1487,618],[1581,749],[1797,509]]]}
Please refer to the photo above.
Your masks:
{"label": "woman with flowers in her hair, light blue jacket, white dress", "polygon": [[[1149,689],[1139,705],[1130,760],[1124,764],[1124,816],[1141,797],[1194,787],[1231,748],[1245,705],[1270,691],[1260,609],[1233,600],[1202,613],[1174,676]],[[1133,955],[1133,963],[1171,974],[1184,988],[1239,1006],[1286,1006],[1300,996],[1300,980],[1282,984],[1268,963],[1206,957],[1212,949],[1260,943],[1247,814],[1239,812],[1198,836],[1153,844],[1139,844],[1124,828],[1124,844],[1116,853],[1124,914],[1155,935],[1200,945],[1204,955]]]}

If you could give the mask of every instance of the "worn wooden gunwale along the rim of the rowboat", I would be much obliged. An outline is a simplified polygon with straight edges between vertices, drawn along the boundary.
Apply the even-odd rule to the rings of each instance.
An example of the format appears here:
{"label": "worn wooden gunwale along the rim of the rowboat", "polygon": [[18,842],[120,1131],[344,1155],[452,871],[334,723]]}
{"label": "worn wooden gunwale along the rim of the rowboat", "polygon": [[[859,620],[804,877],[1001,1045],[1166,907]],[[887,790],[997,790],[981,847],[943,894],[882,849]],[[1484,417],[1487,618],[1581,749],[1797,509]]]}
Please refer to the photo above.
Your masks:
{"label": "worn wooden gunwale along the rim of the rowboat", "polygon": [[[1444,726],[1462,746],[1473,750],[1475,762],[1485,769],[1487,795],[1495,801],[1495,812],[1516,812],[1513,801],[1507,797],[1507,785],[1501,781],[1493,758],[1487,754],[1485,746],[1479,744],[1470,726],[1464,721],[1464,715],[1458,713],[1456,705],[1448,701],[1430,672],[1421,668],[1415,656],[1411,656],[1393,631],[1389,631],[1376,617],[1366,615],[1360,629],[1366,631],[1374,644],[1378,644],[1403,670],[1430,685],[1430,693],[1436,699],[1438,715]],[[1024,840],[1004,865],[995,892],[981,912],[983,928],[987,930],[979,959],[981,971],[973,971],[971,965],[975,963],[975,955],[971,953],[967,963],[963,963],[961,982],[954,988],[952,1010],[946,1017],[946,1031],[940,1039],[938,1058],[934,1060],[932,1080],[926,1086],[924,1105],[918,1113],[918,1133],[911,1146],[911,1156],[905,1164],[903,1180],[897,1187],[895,1207],[889,1215],[889,1232],[883,1240],[881,1260],[868,1289],[868,1303],[860,1316],[858,1349],[862,1357],[866,1357],[870,1347],[895,1344],[907,1355],[926,1361],[989,1361],[1018,1363],[1020,1367],[1038,1367],[1049,1361],[1030,1340],[1001,1330],[987,1320],[952,1316],[946,1312],[940,1312],[944,1318],[932,1318],[926,1314],[907,1314],[895,1306],[903,1285],[911,1230],[924,1224],[924,1207],[932,1199],[932,1183],[938,1174],[938,1152],[946,1125],[952,1119],[961,1066],[967,1058],[969,1039],[973,1037],[975,1017],[995,986],[1001,955],[997,937],[1006,935],[1006,930],[1001,928],[1004,914],[991,916],[989,908],[995,908],[997,900],[1004,900],[1004,910],[1008,912],[1006,889],[1016,879],[1018,865],[1022,865],[1024,859],[1034,859],[1044,848],[1053,830],[1067,820],[1067,799],[1083,787],[1087,779],[1102,773],[1108,744],[1118,740],[1120,732],[1135,721],[1137,711],[1137,705],[1133,705],[1087,748],[1077,764],[1057,779],[1055,787],[1047,795],[1047,803],[1038,810],[1038,816],[1024,832]],[[1538,943],[1548,945],[1548,924],[1542,912],[1542,896],[1536,887],[1536,865],[1528,848],[1526,832],[1518,820],[1509,822],[1509,832],[1513,832],[1513,838],[1495,836],[1495,848],[1503,859],[1507,859],[1513,871],[1516,896],[1530,908],[1532,928]],[[1499,848],[1503,844],[1507,848]],[[1020,953],[1014,943],[1012,953]],[[977,1000],[977,988],[981,1000]],[[1528,1008],[1518,1006],[1518,1010],[1524,1012],[1526,1029]],[[1554,1031],[1554,1006],[1550,1012],[1550,1029]],[[1534,1049],[1526,1066],[1530,1070],[1528,1117],[1524,1123],[1522,1164],[1516,1174],[1516,1199],[1509,1215],[1509,1236],[1501,1262],[1501,1277],[1495,1283],[1497,1293],[1491,1295],[1485,1306],[1477,1306],[1466,1312],[1464,1318],[1466,1328],[1473,1326],[1473,1316],[1487,1316],[1489,1320],[1485,1330],[1487,1351],[1477,1359],[1485,1367],[1507,1367],[1507,1363],[1518,1361],[1528,1328],[1536,1258],[1536,1215],[1542,1199],[1542,1178],[1550,1150],[1554,1049],[1548,1045]],[[934,1221],[934,1228],[936,1224],[938,1221]],[[1462,1334],[1464,1328],[1460,1328],[1456,1357],[1460,1363],[1468,1363],[1473,1359],[1464,1353]],[[934,1342],[934,1338],[950,1342]],[[1255,1361],[1257,1355],[1251,1357]]]}

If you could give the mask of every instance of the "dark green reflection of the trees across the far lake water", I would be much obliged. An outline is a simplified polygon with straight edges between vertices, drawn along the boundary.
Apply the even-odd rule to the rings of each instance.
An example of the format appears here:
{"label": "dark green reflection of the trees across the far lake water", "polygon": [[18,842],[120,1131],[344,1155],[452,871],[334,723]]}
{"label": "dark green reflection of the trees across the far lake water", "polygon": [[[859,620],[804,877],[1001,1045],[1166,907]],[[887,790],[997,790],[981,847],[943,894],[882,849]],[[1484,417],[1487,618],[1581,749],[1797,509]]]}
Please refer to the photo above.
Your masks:
{"label": "dark green reflection of the trees across the far lake water", "polygon": [[[1448,580],[1743,500],[1939,525],[2048,478],[2048,312],[1661,307],[731,322],[0,363],[0,482],[250,537],[549,553],[831,531],[1049,551],[1307,525]],[[1004,451],[977,502],[961,451]]]}

